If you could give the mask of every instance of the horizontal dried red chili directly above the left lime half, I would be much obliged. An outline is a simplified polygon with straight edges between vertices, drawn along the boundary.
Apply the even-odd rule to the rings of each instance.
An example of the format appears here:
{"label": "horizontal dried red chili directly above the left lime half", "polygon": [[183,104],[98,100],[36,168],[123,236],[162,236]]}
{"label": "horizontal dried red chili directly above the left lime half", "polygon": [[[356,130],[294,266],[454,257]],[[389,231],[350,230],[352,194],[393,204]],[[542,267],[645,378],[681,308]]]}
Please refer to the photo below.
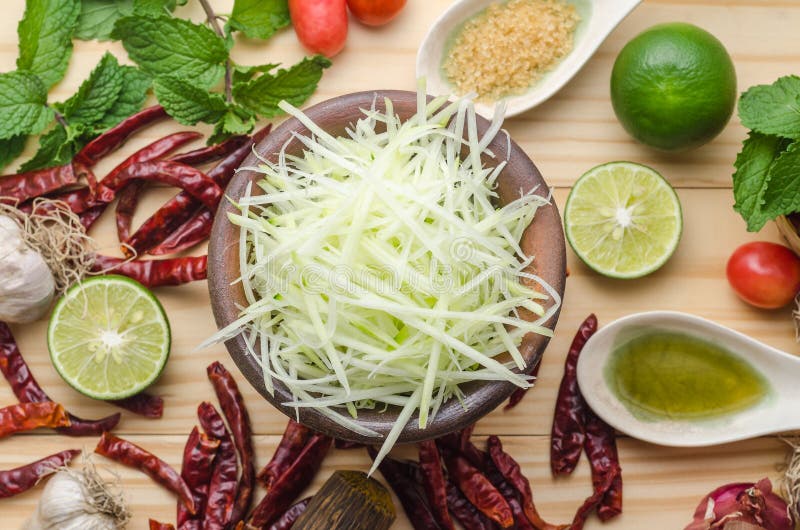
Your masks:
{"label": "horizontal dried red chili directly above the left lime half", "polygon": [[181,285],[207,278],[208,256],[128,261],[97,254],[92,270],[121,274],[147,287]]}

